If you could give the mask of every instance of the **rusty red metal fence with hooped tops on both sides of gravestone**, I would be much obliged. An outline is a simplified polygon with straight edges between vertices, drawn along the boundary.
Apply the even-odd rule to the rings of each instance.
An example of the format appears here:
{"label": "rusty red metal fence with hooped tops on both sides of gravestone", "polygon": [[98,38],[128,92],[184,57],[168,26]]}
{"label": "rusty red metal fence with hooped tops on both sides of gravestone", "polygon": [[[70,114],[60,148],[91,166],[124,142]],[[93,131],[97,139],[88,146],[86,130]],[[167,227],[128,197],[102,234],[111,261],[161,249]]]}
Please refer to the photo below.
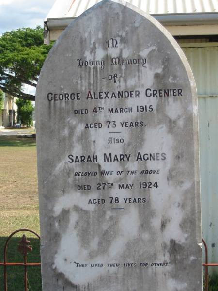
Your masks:
{"label": "rusty red metal fence with hooped tops on both sides of gravestone", "polygon": [[[23,234],[22,239],[19,241],[18,243],[18,248],[17,250],[23,255],[23,262],[7,262],[7,247],[8,247],[8,243],[10,241],[10,239],[18,232],[31,232],[33,233],[39,240],[40,240],[40,236],[34,232],[31,229],[26,229],[26,228],[22,228],[22,229],[18,229],[16,231],[14,231],[6,240],[5,245],[4,245],[4,261],[0,262],[0,266],[3,266],[4,268],[4,291],[8,291],[7,288],[7,266],[22,266],[24,267],[24,290],[28,291],[28,279],[27,279],[27,267],[28,266],[41,266],[41,263],[28,263],[27,262],[27,255],[29,252],[32,251],[32,246],[31,246],[31,242],[27,240],[25,234]],[[204,286],[205,286],[205,291],[208,291],[208,267],[218,267],[218,263],[208,263],[208,249],[207,249],[207,244],[204,241],[204,239],[202,239],[203,245],[204,245],[204,249],[205,249],[205,263],[203,263],[203,266],[205,268],[205,272],[204,272]]]}

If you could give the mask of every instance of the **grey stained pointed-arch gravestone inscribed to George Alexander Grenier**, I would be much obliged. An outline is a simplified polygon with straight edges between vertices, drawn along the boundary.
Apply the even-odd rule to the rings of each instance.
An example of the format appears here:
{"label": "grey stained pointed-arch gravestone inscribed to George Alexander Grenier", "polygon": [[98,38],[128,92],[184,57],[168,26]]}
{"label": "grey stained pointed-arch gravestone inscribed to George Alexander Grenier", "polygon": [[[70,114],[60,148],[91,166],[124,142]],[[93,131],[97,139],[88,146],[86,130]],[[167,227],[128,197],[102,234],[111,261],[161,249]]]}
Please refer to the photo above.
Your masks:
{"label": "grey stained pointed-arch gravestone inscribed to George Alexander Grenier", "polygon": [[43,290],[202,290],[197,95],[171,35],[93,6],[51,49],[36,118]]}

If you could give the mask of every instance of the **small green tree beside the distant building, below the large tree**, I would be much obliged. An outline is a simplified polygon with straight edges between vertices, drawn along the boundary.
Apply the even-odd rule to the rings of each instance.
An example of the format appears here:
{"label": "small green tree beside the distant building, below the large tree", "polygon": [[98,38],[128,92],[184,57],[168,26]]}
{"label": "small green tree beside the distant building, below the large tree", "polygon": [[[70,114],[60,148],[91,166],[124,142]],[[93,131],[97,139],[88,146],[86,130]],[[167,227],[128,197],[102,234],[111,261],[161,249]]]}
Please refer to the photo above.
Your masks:
{"label": "small green tree beside the distant building, below the large tree", "polygon": [[17,121],[30,127],[32,125],[32,112],[34,107],[30,100],[16,99]]}

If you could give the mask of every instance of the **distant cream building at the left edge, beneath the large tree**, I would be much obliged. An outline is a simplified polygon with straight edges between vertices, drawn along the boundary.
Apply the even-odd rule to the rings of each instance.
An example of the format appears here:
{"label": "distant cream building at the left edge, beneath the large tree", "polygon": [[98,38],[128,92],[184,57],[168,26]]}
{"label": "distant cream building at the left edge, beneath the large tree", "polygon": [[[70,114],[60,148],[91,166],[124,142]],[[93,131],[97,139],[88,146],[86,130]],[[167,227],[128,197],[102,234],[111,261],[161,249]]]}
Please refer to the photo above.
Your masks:
{"label": "distant cream building at the left edge, beneath the large tree", "polygon": [[3,93],[3,109],[0,114],[0,127],[10,127],[16,124],[16,97]]}

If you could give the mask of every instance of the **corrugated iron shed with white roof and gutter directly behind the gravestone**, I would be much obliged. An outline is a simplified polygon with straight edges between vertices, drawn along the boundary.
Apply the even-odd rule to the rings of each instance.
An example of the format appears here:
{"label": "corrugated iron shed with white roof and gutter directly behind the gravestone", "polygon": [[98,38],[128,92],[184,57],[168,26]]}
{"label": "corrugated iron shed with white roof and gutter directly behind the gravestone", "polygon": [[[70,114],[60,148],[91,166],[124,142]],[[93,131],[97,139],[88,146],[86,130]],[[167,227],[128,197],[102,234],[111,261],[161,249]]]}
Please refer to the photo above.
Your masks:
{"label": "corrugated iron shed with white roof and gutter directly behind the gravestone", "polygon": [[[209,260],[218,261],[218,0],[126,1],[165,26],[192,68],[199,106],[202,235]],[[56,40],[73,19],[98,2],[57,0],[44,23],[45,43]]]}

